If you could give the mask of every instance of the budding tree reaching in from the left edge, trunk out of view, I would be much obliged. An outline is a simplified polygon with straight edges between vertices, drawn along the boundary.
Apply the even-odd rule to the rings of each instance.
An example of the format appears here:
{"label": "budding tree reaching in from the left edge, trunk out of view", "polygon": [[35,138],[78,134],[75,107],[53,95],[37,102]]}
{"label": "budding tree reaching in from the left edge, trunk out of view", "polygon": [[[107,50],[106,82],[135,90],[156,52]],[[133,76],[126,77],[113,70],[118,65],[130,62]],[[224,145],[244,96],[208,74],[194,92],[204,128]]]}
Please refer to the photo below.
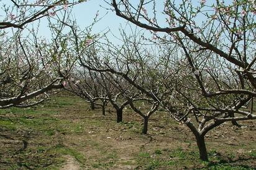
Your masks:
{"label": "budding tree reaching in from the left edge, trunk out of view", "polygon": [[[63,88],[74,60],[61,33],[81,1],[1,1],[0,108],[34,106]],[[52,40],[38,36],[41,19]],[[34,24],[35,23],[35,24]],[[37,25],[37,26],[35,26]]]}

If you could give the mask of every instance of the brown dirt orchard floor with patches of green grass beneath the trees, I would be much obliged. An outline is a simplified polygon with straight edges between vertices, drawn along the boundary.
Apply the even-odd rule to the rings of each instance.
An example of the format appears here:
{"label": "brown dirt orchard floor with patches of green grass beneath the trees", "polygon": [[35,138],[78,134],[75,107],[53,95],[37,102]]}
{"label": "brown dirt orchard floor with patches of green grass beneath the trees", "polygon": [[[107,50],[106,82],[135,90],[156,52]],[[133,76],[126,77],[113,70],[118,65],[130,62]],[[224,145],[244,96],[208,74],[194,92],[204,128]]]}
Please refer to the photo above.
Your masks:
{"label": "brown dirt orchard floor with patches of green grass beneath the trees", "polygon": [[89,109],[58,95],[37,108],[0,110],[0,169],[256,169],[256,122],[226,123],[206,135],[209,162],[199,160],[193,134],[158,112],[149,134],[129,108]]}

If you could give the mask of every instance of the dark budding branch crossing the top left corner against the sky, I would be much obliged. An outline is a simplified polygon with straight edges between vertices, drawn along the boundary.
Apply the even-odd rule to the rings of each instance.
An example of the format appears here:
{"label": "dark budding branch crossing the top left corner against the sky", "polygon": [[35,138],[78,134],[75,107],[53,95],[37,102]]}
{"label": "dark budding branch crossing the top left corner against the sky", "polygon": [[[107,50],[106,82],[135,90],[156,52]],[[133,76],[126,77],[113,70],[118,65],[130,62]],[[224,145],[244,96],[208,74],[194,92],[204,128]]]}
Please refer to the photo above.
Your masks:
{"label": "dark budding branch crossing the top left corner against the sky", "polygon": [[2,15],[0,29],[24,29],[29,23],[49,15],[54,16],[58,11],[66,10],[68,7],[72,7],[81,2],[82,1],[68,2],[65,0],[37,0],[35,2],[11,0],[9,2],[1,2],[2,12],[5,13],[5,15]]}

